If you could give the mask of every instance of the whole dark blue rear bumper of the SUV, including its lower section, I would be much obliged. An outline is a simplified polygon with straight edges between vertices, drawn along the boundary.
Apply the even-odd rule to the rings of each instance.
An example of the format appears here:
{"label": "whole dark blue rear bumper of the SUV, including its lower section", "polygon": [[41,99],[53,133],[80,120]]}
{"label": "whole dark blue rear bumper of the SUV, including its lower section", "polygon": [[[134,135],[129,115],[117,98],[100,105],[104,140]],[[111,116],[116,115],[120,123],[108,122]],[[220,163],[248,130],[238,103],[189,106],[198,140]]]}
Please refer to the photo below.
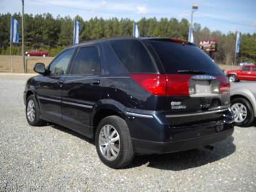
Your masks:
{"label": "whole dark blue rear bumper of the SUV, including its lower section", "polygon": [[212,121],[202,121],[196,116],[189,119],[183,117],[184,121],[194,119],[194,122],[187,122],[179,127],[172,127],[171,124],[182,122],[182,118],[166,118],[166,115],[156,114],[151,118],[145,115],[133,115],[132,118],[128,118],[127,124],[130,128],[134,152],[140,154],[179,152],[211,145],[232,136],[234,115],[230,109],[209,115],[217,118],[213,118]]}

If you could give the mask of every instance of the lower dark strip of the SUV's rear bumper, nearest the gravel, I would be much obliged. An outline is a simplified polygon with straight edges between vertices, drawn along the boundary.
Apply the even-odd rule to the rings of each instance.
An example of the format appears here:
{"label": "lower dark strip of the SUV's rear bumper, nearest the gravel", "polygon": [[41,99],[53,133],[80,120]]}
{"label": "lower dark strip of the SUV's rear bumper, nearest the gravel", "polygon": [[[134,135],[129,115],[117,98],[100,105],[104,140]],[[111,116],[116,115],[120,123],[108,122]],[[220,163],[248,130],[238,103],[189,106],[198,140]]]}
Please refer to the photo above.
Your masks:
{"label": "lower dark strip of the SUV's rear bumper, nearest the gravel", "polygon": [[230,138],[234,132],[234,125],[231,126],[233,128],[222,132],[216,132],[216,134],[209,136],[198,136],[198,138],[169,142],[146,141],[132,138],[132,144],[134,146],[134,151],[140,154],[165,154],[179,152],[204,147],[226,140],[227,138]]}

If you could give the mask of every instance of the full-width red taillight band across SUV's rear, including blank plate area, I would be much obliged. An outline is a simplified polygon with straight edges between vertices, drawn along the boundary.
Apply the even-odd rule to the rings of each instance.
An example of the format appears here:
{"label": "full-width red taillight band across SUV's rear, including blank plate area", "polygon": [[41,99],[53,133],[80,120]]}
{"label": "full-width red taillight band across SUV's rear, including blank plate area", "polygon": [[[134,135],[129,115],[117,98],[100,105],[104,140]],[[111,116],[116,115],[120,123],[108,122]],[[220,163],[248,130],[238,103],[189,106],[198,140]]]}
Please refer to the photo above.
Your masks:
{"label": "full-width red taillight band across SUV's rear, including blank plate area", "polygon": [[190,95],[191,97],[196,97],[198,94],[223,94],[230,92],[230,83],[227,77],[221,76],[212,77],[204,75],[202,77],[198,76],[200,78],[196,79],[193,78],[193,75],[184,74],[131,74],[131,77],[147,92],[154,95]]}

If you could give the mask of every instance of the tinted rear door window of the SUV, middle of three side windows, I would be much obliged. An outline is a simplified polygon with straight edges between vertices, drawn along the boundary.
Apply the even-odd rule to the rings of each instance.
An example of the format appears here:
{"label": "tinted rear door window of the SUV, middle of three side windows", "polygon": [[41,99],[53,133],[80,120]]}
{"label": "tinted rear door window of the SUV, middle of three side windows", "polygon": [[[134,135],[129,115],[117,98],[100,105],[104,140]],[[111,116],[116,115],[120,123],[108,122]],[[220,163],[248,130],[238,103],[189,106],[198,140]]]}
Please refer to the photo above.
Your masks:
{"label": "tinted rear door window of the SUV, middle of three side windows", "polygon": [[99,74],[100,60],[97,47],[81,47],[72,74]]}

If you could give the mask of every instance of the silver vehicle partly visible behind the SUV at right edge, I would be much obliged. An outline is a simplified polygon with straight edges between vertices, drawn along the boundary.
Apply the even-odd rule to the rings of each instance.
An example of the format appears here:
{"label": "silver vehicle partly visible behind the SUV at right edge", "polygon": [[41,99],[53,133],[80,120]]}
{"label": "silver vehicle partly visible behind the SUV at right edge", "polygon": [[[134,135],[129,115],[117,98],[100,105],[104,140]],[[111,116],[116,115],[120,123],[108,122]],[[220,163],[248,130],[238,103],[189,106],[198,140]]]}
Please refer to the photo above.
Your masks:
{"label": "silver vehicle partly visible behind the SUV at right edge", "polygon": [[248,127],[256,118],[256,82],[231,83],[231,109],[235,125]]}

